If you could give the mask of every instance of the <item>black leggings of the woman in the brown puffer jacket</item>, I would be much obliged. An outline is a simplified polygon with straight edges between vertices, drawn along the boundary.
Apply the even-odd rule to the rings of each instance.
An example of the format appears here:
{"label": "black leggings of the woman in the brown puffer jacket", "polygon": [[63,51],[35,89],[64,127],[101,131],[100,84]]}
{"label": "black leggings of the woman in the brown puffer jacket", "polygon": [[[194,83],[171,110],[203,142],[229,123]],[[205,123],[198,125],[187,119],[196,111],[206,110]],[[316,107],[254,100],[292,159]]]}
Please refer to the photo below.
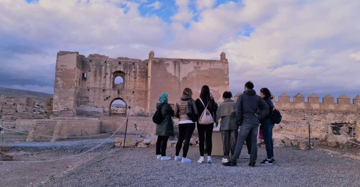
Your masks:
{"label": "black leggings of the woman in the brown puffer jacket", "polygon": [[190,138],[195,130],[195,123],[183,123],[179,124],[179,140],[176,142],[175,156],[179,156],[181,146],[184,142],[183,157],[185,158],[189,151]]}

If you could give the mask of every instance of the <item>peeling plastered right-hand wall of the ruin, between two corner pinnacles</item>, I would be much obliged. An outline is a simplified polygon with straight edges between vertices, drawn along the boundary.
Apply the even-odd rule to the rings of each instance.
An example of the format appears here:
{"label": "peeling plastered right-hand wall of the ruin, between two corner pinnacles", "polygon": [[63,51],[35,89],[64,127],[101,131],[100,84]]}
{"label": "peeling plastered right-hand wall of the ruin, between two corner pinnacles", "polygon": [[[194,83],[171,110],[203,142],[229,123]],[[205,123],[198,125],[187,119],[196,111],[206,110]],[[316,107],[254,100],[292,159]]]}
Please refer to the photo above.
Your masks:
{"label": "peeling plastered right-hand wall of the ruin, between two corner pinnacles", "polygon": [[201,87],[208,85],[216,102],[229,90],[229,63],[222,52],[220,60],[155,58],[149,54],[149,109],[155,109],[161,93],[169,94],[169,103],[180,99],[184,88],[193,91],[193,98],[200,95]]}

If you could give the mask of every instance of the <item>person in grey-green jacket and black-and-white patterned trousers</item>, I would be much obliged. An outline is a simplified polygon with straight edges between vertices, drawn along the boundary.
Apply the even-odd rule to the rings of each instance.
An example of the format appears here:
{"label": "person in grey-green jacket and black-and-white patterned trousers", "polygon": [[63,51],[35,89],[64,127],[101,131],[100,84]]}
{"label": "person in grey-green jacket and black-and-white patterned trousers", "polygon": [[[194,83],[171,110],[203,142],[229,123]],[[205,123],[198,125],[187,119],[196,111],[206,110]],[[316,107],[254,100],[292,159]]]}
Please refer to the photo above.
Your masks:
{"label": "person in grey-green jacket and black-and-white patterned trousers", "polygon": [[224,149],[224,158],[222,162],[226,163],[229,161],[230,151],[231,155],[234,155],[236,140],[238,138],[239,125],[235,116],[236,102],[231,99],[233,94],[230,91],[225,91],[222,94],[224,101],[219,104],[216,114],[216,127],[221,119],[220,131],[222,137],[222,148]]}

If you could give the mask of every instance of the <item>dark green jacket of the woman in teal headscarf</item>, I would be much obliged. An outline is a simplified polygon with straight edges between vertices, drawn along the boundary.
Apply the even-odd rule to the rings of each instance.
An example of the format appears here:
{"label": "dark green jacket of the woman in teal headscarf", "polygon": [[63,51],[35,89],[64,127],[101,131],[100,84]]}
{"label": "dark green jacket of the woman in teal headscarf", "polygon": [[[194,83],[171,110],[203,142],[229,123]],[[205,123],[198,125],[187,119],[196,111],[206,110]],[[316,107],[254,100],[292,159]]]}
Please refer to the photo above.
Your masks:
{"label": "dark green jacket of the woman in teal headscarf", "polygon": [[156,124],[156,135],[160,136],[175,136],[174,124],[171,117],[174,117],[174,110],[166,102],[156,104],[156,109],[161,108],[161,114],[164,120],[160,124]]}

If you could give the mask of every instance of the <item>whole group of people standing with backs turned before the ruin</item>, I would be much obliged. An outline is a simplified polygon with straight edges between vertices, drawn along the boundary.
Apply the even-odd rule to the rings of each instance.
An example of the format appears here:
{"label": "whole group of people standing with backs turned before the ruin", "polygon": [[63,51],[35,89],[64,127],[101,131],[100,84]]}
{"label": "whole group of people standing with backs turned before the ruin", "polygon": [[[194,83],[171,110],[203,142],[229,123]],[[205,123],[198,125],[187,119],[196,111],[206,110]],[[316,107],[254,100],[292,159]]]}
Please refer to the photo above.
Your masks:
{"label": "whole group of people standing with backs turned before the ruin", "polygon": [[[219,126],[222,137],[224,166],[236,166],[244,142],[246,142],[248,155],[244,159],[249,159],[250,167],[254,167],[257,159],[257,137],[260,132],[264,139],[267,158],[260,164],[272,165],[275,163],[273,151],[273,127],[271,120],[275,106],[272,102],[271,92],[267,88],[260,89],[260,96],[253,90],[254,84],[248,81],[244,86],[244,92],[237,101],[233,99],[230,91],[222,94],[224,100],[219,105],[215,102],[210,88],[204,85],[201,88],[198,99],[193,99],[193,92],[190,88],[185,88],[183,95],[175,104],[175,110],[168,104],[168,94],[162,93],[159,103],[156,106],[156,113],[153,121],[156,125],[157,159],[170,160],[166,155],[168,138],[174,137],[174,120],[172,117],[179,118],[179,138],[176,143],[174,160],[181,160],[181,163],[190,163],[192,160],[187,158],[190,145],[190,138],[195,130],[198,130],[200,158],[198,163],[212,163],[212,131],[214,123]],[[260,136],[260,134],[259,134]],[[179,156],[181,147],[183,155]],[[206,148],[206,150],[205,150]],[[231,156],[230,156],[231,153]],[[207,154],[207,160],[204,159]]]}

